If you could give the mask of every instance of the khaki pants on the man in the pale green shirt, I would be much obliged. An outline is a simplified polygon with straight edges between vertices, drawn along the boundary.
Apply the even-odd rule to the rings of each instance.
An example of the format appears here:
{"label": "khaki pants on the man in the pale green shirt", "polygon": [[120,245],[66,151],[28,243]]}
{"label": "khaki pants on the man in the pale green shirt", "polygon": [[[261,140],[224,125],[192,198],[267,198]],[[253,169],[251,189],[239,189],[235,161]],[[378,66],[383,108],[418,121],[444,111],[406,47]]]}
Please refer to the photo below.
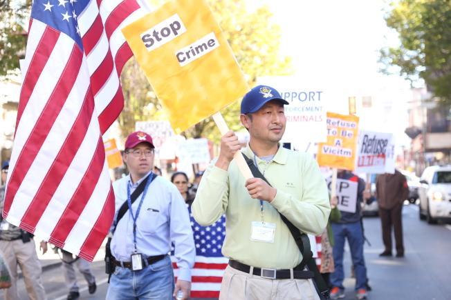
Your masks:
{"label": "khaki pants on the man in the pale green shirt", "polygon": [[319,300],[311,279],[266,279],[227,266],[219,300]]}

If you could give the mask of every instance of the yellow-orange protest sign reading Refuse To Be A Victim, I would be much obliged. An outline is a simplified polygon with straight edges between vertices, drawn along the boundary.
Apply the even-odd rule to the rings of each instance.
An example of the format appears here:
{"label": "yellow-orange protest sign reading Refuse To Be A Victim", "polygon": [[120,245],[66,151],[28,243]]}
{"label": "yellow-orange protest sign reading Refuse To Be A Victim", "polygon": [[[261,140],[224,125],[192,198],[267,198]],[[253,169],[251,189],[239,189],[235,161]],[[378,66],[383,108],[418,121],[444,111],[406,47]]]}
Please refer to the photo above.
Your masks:
{"label": "yellow-orange protest sign reading Refuse To Be A Victim", "polygon": [[327,141],[318,144],[320,166],[354,170],[358,117],[327,112]]}

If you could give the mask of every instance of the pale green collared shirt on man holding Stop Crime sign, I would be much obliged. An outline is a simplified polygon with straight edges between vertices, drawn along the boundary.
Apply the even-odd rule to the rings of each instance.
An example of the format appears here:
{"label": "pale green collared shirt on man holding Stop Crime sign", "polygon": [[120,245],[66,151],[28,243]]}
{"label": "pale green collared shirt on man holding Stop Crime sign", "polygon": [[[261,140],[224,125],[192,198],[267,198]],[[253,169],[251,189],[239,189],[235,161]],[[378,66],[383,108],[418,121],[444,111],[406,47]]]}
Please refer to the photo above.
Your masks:
{"label": "pale green collared shirt on man holding Stop Crime sign", "polygon": [[[254,159],[249,146],[243,153]],[[234,161],[228,171],[214,166],[215,161],[205,171],[192,204],[194,219],[208,226],[226,214],[222,253],[230,259],[259,268],[293,268],[302,254],[279,212],[303,232],[322,234],[331,210],[326,181],[309,154],[279,147],[269,163],[258,157],[256,161],[277,188],[271,203],[263,201],[265,222],[276,226],[273,243],[250,240],[252,221],[261,221],[260,202],[250,197]]]}

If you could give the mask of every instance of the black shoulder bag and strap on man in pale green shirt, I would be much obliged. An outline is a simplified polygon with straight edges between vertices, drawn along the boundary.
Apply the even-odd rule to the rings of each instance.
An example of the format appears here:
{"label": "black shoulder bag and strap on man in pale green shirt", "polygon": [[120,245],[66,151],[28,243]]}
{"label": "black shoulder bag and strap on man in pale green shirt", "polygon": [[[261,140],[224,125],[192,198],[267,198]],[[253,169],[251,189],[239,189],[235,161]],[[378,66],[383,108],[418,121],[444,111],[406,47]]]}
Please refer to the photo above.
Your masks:
{"label": "black shoulder bag and strap on man in pale green shirt", "polygon": [[[250,172],[252,172],[252,175],[254,175],[255,178],[263,179],[266,183],[268,183],[270,186],[271,184],[268,182],[268,180],[261,174],[260,170],[255,166],[252,159],[249,157],[246,157],[245,154],[243,154],[244,159],[246,160],[246,163],[248,163],[248,166],[250,168]],[[280,212],[279,212],[280,214]],[[313,259],[313,253],[311,252],[310,248],[310,240],[307,234],[304,232],[301,232],[299,229],[296,228],[296,226],[293,225],[283,214],[280,214],[280,217],[282,218],[282,221],[286,224],[288,227],[288,230],[290,230],[291,234],[293,235],[293,238],[295,239],[296,245],[299,248],[299,250],[302,253],[302,261],[298,268],[300,270],[303,270],[305,266],[309,268],[313,272],[313,282],[315,283],[315,288],[317,289],[318,295],[320,296],[320,299],[328,300],[330,299],[329,296],[329,287],[327,286],[326,282],[324,281],[320,270],[318,270],[316,266],[316,261]]]}

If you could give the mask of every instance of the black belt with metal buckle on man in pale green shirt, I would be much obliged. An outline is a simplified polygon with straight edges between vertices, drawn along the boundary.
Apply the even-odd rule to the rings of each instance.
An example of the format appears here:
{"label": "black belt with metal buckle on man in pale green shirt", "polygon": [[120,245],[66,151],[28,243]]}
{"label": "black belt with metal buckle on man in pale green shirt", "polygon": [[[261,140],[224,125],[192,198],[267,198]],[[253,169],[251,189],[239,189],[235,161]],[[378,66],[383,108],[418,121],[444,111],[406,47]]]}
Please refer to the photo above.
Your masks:
{"label": "black belt with metal buckle on man in pale green shirt", "polygon": [[[239,261],[229,261],[229,266],[234,269],[237,269],[241,272],[250,273],[250,266],[245,265],[244,263],[240,263]],[[252,274],[268,278],[268,279],[291,279],[291,270],[275,270],[275,269],[265,269],[265,268],[256,268],[252,271]],[[309,279],[313,278],[312,271],[304,271],[304,270],[295,270],[293,269],[293,278],[294,279]]]}

